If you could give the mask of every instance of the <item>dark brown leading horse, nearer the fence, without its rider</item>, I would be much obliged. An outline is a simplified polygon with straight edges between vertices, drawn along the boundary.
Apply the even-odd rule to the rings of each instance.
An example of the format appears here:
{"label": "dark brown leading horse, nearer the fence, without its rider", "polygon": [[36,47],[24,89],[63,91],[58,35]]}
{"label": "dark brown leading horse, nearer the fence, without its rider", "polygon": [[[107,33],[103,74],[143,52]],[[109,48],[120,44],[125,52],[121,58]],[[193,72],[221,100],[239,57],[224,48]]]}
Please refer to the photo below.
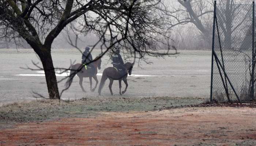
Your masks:
{"label": "dark brown leading horse, nearer the fence, without its rider", "polygon": [[[125,74],[120,74],[116,68],[113,68],[113,67],[108,67],[106,69],[103,70],[103,73],[102,73],[102,77],[101,77],[101,83],[99,84],[99,90],[98,90],[98,93],[99,95],[101,95],[101,89],[103,88],[103,85],[105,84],[105,81],[109,78],[109,90],[110,90],[110,93],[111,95],[113,95],[113,92],[112,92],[112,84],[113,84],[113,81],[114,80],[119,80],[119,94],[122,95],[126,92],[126,89],[128,87],[128,83],[127,83],[127,76],[128,76],[128,73],[129,75],[132,74],[132,67],[134,65],[134,63],[130,63],[130,62],[127,62],[124,64],[125,65]],[[121,81],[124,81],[125,83],[125,89],[123,92],[121,92]]]}

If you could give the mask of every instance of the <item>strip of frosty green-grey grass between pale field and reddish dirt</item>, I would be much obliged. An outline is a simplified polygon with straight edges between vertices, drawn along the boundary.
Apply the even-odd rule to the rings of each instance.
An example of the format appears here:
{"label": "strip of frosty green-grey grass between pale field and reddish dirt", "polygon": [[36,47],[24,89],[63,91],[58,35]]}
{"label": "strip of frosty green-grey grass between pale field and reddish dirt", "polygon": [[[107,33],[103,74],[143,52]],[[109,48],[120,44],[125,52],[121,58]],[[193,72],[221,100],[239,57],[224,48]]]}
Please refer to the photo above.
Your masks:
{"label": "strip of frosty green-grey grass between pale field and reddish dirt", "polygon": [[95,116],[100,112],[154,111],[164,107],[202,103],[200,97],[99,97],[79,100],[33,100],[0,107],[0,125],[44,121],[61,117]]}

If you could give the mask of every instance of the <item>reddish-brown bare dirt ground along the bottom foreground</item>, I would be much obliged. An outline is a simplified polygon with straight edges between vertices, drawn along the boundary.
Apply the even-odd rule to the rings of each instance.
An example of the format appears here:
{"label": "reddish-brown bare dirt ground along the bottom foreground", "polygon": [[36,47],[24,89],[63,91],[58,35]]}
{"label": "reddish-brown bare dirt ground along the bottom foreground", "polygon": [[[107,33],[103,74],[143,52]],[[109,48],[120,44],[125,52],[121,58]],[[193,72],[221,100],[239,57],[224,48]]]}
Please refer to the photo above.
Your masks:
{"label": "reddish-brown bare dirt ground along the bottom foreground", "polygon": [[181,108],[101,113],[24,123],[0,131],[0,145],[221,145],[255,142],[255,108]]}

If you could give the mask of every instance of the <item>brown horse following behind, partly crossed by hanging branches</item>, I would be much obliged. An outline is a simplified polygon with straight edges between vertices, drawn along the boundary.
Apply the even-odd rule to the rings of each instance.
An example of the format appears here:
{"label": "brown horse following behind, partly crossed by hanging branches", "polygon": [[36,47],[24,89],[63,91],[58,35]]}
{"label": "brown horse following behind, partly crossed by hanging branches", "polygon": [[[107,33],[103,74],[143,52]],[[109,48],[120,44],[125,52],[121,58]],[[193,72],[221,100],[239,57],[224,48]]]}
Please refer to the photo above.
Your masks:
{"label": "brown horse following behind, partly crossed by hanging branches", "polygon": [[[97,59],[96,61],[92,62],[91,64],[93,64],[93,66],[95,68],[95,73],[94,74],[97,74],[97,72],[98,72],[97,67],[99,69],[101,69],[101,58]],[[82,67],[82,69],[81,69],[81,67]],[[78,72],[79,69],[81,69],[81,70]],[[90,73],[90,71],[88,69],[88,65],[87,65],[87,69],[86,69],[82,64],[75,64],[75,65],[71,66],[70,75],[69,75],[69,78],[66,82],[66,88],[71,85],[73,77],[76,74],[79,77],[79,85],[80,85],[83,92],[86,92],[83,88],[83,78],[84,77],[89,77],[89,79],[90,79],[90,89],[91,89],[91,85],[93,84],[92,81],[91,81],[91,78],[93,77],[94,80],[96,81],[96,84],[95,84],[95,87],[93,89],[91,89],[91,91],[94,91],[96,89],[96,87],[98,85],[97,75],[92,75],[93,73]]]}

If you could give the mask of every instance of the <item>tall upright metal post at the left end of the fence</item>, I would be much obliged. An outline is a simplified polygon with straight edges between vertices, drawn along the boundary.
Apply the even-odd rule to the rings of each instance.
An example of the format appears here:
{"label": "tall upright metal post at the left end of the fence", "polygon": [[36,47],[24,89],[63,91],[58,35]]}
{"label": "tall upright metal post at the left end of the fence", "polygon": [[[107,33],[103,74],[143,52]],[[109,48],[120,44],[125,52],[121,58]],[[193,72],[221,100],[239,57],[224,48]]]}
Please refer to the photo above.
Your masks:
{"label": "tall upright metal post at the left end of the fence", "polygon": [[216,0],[214,1],[214,16],[212,27],[212,53],[211,53],[211,95],[210,101],[212,101],[212,79],[213,79],[213,52],[214,52],[214,37],[215,37],[215,18],[216,18]]}

